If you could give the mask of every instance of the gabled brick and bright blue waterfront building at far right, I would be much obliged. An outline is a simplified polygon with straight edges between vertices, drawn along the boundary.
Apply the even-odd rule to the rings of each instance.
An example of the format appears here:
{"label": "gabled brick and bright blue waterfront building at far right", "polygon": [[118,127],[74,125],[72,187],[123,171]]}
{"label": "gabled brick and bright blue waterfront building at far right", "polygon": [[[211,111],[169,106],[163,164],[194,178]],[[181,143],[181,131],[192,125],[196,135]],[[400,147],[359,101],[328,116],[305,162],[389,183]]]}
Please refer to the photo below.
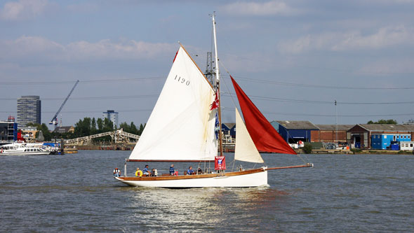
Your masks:
{"label": "gabled brick and bright blue waterfront building at far right", "polygon": [[347,131],[352,148],[389,149],[392,144],[411,141],[414,125],[358,124]]}

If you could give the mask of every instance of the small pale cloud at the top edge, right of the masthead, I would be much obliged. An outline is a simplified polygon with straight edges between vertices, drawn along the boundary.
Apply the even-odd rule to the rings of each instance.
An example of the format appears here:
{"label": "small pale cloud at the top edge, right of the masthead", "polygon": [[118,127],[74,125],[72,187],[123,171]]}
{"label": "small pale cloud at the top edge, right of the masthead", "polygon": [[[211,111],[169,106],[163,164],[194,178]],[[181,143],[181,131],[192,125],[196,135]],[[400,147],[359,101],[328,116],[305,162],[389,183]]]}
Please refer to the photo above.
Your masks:
{"label": "small pale cloud at the top edge, right of the masthead", "polygon": [[239,1],[222,7],[232,15],[293,15],[299,10],[291,8],[283,1],[267,1],[264,3]]}

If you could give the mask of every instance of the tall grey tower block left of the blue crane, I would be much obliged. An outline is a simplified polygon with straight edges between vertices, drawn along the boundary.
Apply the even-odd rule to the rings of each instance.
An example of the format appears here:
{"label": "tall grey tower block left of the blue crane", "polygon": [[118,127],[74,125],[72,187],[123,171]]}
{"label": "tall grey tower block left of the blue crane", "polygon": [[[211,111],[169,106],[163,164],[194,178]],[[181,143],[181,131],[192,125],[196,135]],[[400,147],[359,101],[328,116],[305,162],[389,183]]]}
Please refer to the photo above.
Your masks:
{"label": "tall grey tower block left of the blue crane", "polygon": [[27,123],[41,124],[41,100],[37,95],[27,95],[18,98],[18,127],[27,126]]}

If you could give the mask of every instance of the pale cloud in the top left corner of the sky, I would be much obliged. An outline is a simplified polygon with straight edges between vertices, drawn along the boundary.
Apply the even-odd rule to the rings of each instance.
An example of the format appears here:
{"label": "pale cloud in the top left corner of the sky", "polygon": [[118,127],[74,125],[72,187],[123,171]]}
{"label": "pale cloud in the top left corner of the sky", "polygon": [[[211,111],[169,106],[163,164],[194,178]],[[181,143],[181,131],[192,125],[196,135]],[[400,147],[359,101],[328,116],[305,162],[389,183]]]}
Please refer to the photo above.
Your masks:
{"label": "pale cloud in the top left corner of the sky", "polygon": [[2,20],[30,20],[43,14],[49,6],[47,0],[19,0],[4,3],[0,10]]}

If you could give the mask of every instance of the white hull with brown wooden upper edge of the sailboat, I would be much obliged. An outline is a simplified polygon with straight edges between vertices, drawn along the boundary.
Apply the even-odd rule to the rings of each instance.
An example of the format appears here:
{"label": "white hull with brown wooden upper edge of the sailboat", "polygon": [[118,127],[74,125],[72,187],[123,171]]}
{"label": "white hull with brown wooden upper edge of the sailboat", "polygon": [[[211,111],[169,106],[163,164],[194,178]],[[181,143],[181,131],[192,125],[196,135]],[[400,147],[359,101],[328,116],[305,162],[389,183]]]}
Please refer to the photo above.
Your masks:
{"label": "white hull with brown wooden upper edge of the sailboat", "polygon": [[258,187],[267,185],[266,168],[218,174],[201,174],[192,176],[143,176],[115,177],[118,181],[131,186],[159,188],[207,188],[207,187]]}

